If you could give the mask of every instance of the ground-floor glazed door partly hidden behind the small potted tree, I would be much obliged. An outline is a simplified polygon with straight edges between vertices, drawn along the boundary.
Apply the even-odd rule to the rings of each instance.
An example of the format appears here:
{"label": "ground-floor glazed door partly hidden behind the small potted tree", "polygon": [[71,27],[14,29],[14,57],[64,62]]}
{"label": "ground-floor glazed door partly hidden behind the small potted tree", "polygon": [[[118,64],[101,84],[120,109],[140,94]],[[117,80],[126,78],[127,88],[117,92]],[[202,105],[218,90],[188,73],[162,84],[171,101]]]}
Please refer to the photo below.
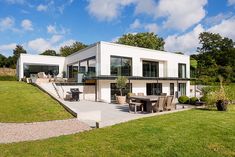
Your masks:
{"label": "ground-floor glazed door partly hidden behind the small potted tree", "polygon": [[[116,101],[116,95],[120,95],[120,90],[117,88],[116,83],[110,84],[111,89],[111,101]],[[127,83],[126,88],[123,90],[123,95],[127,95],[128,93],[132,92],[132,84]]]}

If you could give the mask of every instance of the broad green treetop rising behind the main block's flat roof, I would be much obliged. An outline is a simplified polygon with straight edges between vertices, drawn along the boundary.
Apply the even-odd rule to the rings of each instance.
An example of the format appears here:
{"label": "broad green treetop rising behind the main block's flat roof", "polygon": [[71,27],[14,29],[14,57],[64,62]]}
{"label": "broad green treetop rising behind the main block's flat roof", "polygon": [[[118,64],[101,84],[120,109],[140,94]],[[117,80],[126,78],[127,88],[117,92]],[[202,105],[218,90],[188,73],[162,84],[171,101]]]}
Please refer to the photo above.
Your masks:
{"label": "broad green treetop rising behind the main block's flat roof", "polygon": [[164,40],[154,33],[124,34],[116,42],[118,44],[149,48],[154,50],[164,50]]}

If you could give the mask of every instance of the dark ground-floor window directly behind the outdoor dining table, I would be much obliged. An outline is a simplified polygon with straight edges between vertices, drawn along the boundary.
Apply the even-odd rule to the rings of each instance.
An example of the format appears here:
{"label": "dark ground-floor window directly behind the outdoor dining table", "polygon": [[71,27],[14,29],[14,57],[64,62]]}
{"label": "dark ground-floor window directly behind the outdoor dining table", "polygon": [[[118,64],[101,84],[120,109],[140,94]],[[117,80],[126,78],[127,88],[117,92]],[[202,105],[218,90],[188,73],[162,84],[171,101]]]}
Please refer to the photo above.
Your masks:
{"label": "dark ground-floor window directly behind the outdoor dining table", "polygon": [[162,93],[162,83],[147,83],[147,95],[160,95]]}

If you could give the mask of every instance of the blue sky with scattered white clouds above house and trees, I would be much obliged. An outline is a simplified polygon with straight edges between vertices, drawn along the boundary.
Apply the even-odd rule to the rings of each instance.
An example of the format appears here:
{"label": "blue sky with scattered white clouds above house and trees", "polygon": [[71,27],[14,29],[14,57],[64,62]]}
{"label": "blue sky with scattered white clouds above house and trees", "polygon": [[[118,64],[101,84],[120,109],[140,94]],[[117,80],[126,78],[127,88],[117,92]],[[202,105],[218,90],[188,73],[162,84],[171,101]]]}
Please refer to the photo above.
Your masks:
{"label": "blue sky with scattered white clouds above house and trees", "polygon": [[235,0],[0,0],[0,53],[16,44],[28,53],[59,50],[74,41],[115,41],[154,32],[165,50],[196,52],[198,34],[235,40]]}

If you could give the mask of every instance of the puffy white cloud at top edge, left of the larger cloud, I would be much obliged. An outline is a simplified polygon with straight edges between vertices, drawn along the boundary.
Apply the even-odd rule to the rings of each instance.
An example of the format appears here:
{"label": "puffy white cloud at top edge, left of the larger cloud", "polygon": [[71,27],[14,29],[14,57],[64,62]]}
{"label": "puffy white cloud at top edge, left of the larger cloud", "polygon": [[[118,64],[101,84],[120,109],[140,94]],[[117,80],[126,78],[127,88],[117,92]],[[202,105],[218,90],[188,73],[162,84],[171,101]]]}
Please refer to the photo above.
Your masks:
{"label": "puffy white cloud at top edge, left of the larger cloud", "polygon": [[135,0],[88,0],[87,10],[90,15],[100,21],[111,21],[116,19],[123,7]]}

